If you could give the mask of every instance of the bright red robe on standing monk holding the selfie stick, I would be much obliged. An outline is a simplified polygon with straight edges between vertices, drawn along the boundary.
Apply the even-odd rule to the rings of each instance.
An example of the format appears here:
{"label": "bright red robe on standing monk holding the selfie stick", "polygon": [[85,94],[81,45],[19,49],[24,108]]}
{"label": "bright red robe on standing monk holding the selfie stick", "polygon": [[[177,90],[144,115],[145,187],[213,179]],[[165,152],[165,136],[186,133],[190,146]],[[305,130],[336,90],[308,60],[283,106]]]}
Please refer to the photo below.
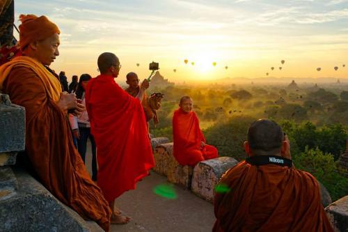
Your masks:
{"label": "bright red robe on standing monk holding the selfie stick", "polygon": [[113,77],[100,75],[88,82],[86,108],[97,145],[97,183],[110,202],[134,190],[155,165],[143,107]]}

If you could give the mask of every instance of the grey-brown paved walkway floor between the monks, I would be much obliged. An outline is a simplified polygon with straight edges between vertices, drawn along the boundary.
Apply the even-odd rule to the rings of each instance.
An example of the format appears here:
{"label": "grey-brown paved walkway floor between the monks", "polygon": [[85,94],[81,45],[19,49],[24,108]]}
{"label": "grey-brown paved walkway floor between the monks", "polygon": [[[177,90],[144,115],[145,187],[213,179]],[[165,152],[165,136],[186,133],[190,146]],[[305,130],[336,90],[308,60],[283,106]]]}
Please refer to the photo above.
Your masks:
{"label": "grey-brown paved walkway floor between the monks", "polygon": [[[91,153],[88,144],[86,166],[91,170]],[[126,225],[113,225],[111,231],[212,231],[214,207],[191,192],[173,186],[176,199],[167,199],[154,193],[159,185],[168,184],[164,176],[152,172],[137,185],[136,190],[125,192],[116,199],[116,206],[132,217]]]}

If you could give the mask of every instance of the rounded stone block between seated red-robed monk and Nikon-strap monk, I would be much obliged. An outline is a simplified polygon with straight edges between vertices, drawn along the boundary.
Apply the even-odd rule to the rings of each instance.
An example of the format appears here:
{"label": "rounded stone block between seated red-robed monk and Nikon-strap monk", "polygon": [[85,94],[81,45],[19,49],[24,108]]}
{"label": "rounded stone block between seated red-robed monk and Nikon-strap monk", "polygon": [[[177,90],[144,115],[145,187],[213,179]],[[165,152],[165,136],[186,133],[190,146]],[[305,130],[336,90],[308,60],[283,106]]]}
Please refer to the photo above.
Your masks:
{"label": "rounded stone block between seated red-robed monk and Nikon-strap monk", "polygon": [[193,169],[192,192],[206,201],[213,202],[215,185],[223,173],[236,164],[238,161],[232,157],[218,157],[199,162]]}

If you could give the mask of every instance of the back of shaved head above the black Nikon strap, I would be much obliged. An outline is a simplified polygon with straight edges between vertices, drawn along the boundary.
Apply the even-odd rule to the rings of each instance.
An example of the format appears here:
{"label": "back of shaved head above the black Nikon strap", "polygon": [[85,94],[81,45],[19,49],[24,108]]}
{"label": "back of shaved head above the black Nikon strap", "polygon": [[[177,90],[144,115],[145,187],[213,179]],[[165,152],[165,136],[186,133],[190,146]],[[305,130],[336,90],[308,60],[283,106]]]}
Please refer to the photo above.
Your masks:
{"label": "back of shaved head above the black Nikon strap", "polygon": [[274,121],[259,119],[248,129],[248,144],[254,151],[278,152],[283,141],[283,130]]}

